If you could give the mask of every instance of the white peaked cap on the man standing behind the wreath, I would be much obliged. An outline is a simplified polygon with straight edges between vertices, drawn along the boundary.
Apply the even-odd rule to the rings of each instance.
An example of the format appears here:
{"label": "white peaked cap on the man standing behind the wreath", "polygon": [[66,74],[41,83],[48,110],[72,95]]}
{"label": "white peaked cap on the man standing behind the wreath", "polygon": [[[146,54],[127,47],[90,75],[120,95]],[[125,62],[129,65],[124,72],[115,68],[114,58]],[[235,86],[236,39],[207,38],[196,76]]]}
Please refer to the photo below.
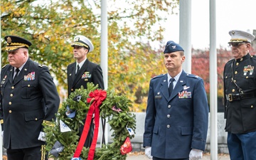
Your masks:
{"label": "white peaked cap on the man standing behind the wreath", "polygon": [[71,46],[72,47],[74,47],[74,46],[85,47],[89,50],[89,52],[91,52],[94,49],[90,39],[88,39],[87,37],[82,36],[82,35],[75,36],[74,42],[71,44]]}

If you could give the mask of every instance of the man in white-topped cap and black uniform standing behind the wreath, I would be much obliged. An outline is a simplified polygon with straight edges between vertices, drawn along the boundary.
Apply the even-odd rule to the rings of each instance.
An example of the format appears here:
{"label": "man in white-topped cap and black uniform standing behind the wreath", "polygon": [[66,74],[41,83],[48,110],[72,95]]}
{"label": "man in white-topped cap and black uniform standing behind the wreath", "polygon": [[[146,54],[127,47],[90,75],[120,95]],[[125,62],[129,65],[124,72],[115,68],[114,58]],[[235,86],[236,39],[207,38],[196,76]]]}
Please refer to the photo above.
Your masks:
{"label": "man in white-topped cap and black uniform standing behind the wreath", "polygon": [[[100,65],[90,62],[90,60],[87,58],[87,54],[92,52],[94,49],[92,42],[87,37],[78,35],[75,36],[71,46],[74,48],[73,54],[76,62],[68,65],[68,95],[70,95],[70,93],[74,92],[76,89],[79,89],[81,86],[86,89],[87,82],[93,82],[93,84],[98,85],[100,89],[104,90],[102,68]],[[75,56],[78,56],[79,53],[77,52],[80,50],[83,50],[82,52],[85,51],[85,53],[82,53],[84,55],[82,58],[78,59]],[[92,143],[94,124],[91,124],[92,125],[89,131],[90,134],[88,134],[85,141],[86,147],[90,146]],[[82,129],[83,126],[80,127],[80,135],[82,134]]]}

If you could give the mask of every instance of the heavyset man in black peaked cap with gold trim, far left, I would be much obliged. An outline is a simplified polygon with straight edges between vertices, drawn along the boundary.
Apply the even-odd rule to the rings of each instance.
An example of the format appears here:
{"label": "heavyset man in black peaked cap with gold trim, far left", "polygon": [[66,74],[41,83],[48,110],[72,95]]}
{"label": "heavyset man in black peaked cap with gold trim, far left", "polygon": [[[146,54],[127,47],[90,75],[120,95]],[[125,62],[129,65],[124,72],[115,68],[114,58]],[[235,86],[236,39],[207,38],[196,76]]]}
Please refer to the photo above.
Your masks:
{"label": "heavyset man in black peaked cap with gold trim, far left", "polygon": [[10,64],[1,69],[0,119],[8,159],[47,159],[41,154],[46,142],[38,136],[42,123],[55,119],[60,97],[48,67],[28,58],[31,42],[17,36],[4,39]]}

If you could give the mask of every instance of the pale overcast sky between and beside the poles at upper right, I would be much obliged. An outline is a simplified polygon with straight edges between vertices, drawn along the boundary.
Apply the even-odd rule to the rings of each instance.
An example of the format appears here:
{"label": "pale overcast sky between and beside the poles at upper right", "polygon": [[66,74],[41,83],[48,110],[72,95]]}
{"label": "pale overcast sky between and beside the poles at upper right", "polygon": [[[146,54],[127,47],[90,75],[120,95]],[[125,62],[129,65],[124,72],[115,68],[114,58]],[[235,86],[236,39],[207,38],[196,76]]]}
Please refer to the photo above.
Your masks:
{"label": "pale overcast sky between and beside the poles at upper right", "polygon": [[[193,48],[209,48],[210,20],[209,0],[191,0],[191,43]],[[256,0],[215,0],[216,46],[228,47],[230,30],[256,30]],[[179,15],[171,15],[166,21],[165,41],[179,42]]]}

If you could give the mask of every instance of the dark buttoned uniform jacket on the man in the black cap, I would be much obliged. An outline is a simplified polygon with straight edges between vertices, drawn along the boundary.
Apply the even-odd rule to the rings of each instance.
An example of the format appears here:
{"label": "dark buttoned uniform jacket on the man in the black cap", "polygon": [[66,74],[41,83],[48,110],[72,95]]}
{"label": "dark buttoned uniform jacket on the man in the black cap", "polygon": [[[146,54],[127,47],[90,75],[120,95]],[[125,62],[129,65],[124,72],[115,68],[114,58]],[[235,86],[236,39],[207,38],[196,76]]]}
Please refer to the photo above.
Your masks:
{"label": "dark buttoned uniform jacket on the man in the black cap", "polygon": [[14,67],[1,70],[0,119],[4,119],[4,147],[25,149],[41,146],[43,120],[52,121],[58,112],[60,97],[46,65],[28,58],[13,83]]}

